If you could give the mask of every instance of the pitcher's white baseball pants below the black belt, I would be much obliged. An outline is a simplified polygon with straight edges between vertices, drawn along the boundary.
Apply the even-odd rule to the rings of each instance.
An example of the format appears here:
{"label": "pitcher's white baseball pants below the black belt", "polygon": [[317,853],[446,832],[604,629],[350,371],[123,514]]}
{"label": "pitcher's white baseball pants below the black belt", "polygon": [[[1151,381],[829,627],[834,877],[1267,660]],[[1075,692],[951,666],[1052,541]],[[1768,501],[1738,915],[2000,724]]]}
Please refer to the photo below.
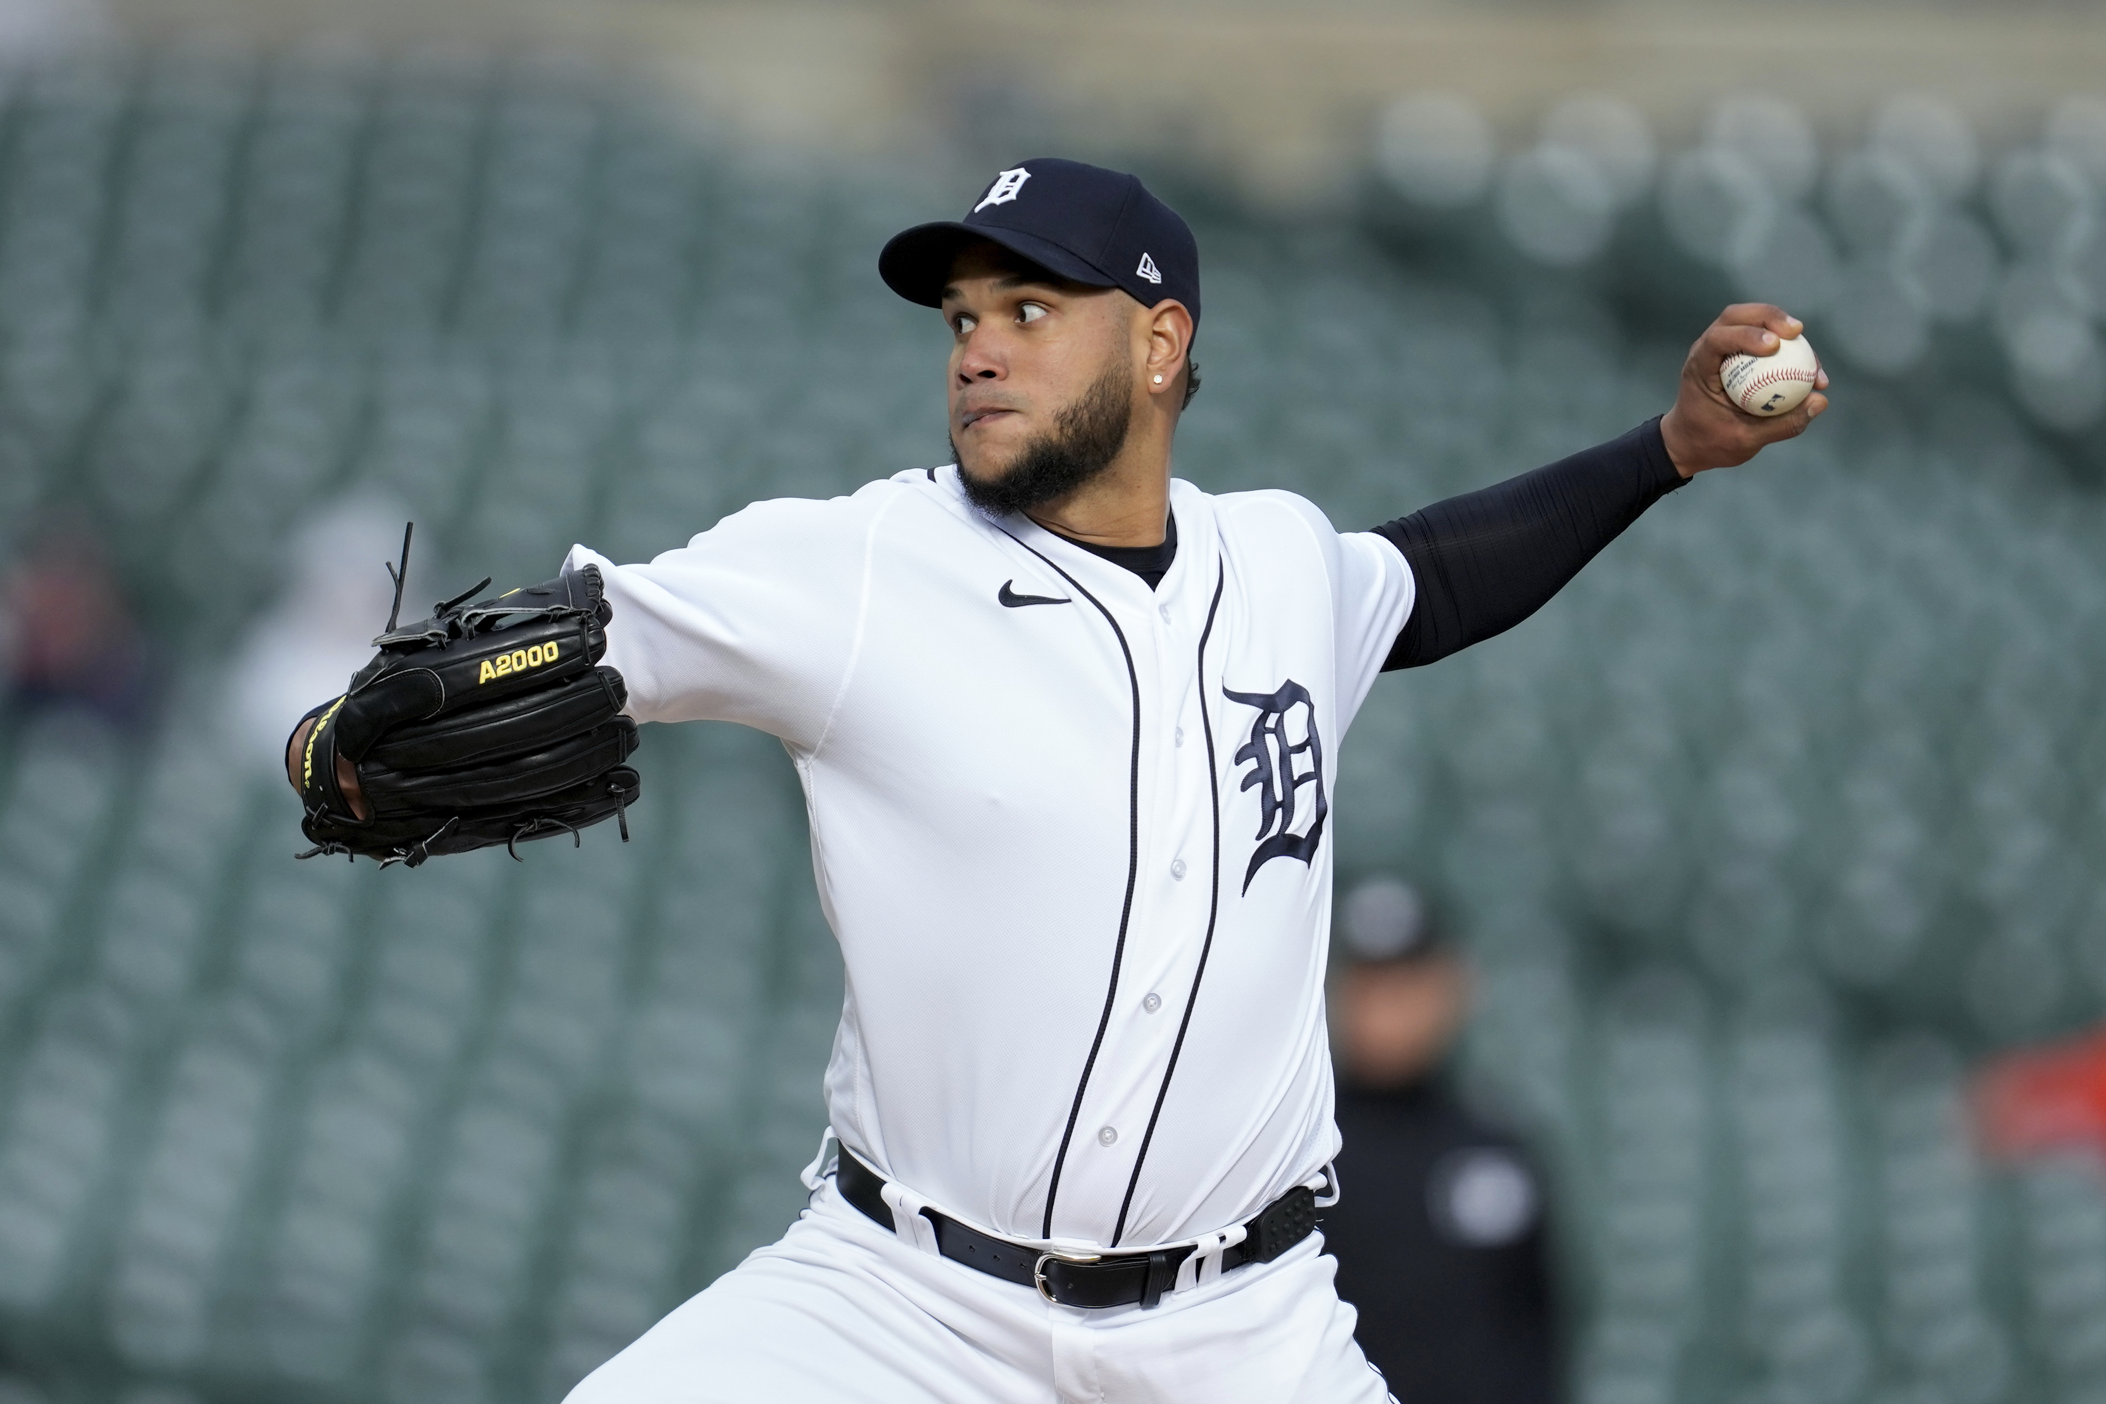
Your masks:
{"label": "pitcher's white baseball pants below the black belt", "polygon": [[1394,1404],[1333,1267],[1310,1233],[1146,1311],[1055,1307],[901,1242],[828,1179],[567,1404]]}

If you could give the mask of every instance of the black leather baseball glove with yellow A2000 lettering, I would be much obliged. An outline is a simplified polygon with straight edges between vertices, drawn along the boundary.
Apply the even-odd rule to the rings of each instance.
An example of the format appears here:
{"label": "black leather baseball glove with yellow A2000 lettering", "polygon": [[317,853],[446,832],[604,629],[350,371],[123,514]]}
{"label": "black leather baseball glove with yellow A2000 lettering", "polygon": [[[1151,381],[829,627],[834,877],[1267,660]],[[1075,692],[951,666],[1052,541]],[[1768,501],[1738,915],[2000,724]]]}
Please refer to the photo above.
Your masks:
{"label": "black leather baseball glove with yellow A2000 lettering", "polygon": [[301,720],[286,773],[314,848],[299,857],[417,867],[602,819],[628,840],[636,722],[621,674],[598,667],[613,617],[598,568],[463,606],[484,585],[421,623],[390,617],[343,697]]}

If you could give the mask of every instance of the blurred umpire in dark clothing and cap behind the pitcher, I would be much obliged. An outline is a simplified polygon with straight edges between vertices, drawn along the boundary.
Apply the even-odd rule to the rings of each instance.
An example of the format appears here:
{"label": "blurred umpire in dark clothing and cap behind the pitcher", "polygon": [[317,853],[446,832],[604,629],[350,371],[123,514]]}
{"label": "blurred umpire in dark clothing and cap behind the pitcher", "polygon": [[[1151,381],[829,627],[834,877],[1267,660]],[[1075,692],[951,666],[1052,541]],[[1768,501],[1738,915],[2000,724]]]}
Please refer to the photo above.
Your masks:
{"label": "blurred umpire in dark clothing and cap behind the pitcher", "polygon": [[1339,1183],[1325,1210],[1354,1337],[1405,1404],[1550,1404],[1558,1320],[1544,1179],[1457,1099],[1443,1063],[1470,972],[1396,878],[1342,903],[1331,1000]]}

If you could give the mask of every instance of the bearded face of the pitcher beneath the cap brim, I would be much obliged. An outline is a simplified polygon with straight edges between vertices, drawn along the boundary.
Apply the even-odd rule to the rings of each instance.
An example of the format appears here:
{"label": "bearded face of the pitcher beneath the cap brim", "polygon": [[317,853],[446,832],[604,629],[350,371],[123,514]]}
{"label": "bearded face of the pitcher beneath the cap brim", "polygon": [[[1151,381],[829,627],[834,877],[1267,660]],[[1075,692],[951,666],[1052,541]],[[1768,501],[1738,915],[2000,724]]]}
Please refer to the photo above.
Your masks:
{"label": "bearded face of the pitcher beneath the cap brim", "polygon": [[975,242],[943,288],[950,442],[969,495],[1026,509],[1104,472],[1133,417],[1139,303]]}

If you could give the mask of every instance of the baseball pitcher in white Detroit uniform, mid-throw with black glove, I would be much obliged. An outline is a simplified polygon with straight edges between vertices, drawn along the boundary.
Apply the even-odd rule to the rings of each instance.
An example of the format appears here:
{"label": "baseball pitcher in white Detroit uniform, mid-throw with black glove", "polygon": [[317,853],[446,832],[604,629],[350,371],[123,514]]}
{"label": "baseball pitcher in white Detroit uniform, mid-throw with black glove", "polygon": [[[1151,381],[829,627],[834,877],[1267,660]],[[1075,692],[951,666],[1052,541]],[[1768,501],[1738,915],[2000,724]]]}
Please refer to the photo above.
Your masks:
{"label": "baseball pitcher in white Detroit uniform, mid-throw with black glove", "polygon": [[878,272],[941,314],[952,463],[392,623],[289,743],[307,836],[423,863],[619,819],[636,722],[796,762],[847,962],[811,1206],[575,1404],[1379,1402],[1316,1231],[1337,747],[1377,674],[1805,429],[1826,396],[1718,383],[1799,322],[1729,307],[1664,417],[1342,533],[1171,478],[1198,250],[1135,177],[1028,160]]}

